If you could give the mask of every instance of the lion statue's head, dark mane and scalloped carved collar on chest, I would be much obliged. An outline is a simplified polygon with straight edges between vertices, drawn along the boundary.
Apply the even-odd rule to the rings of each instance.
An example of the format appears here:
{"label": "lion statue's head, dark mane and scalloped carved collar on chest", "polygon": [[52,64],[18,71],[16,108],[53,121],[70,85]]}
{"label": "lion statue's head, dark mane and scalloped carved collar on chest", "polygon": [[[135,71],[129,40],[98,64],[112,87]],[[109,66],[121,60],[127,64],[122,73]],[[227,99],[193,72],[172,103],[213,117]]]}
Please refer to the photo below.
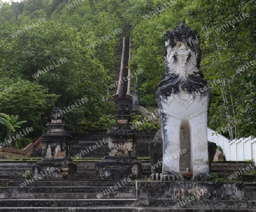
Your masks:
{"label": "lion statue's head, dark mane and scalloped carved collar on chest", "polygon": [[158,98],[161,96],[167,104],[176,100],[188,108],[194,100],[204,104],[210,96],[209,86],[200,71],[199,38],[199,33],[185,27],[183,22],[164,35],[166,67],[159,83]]}

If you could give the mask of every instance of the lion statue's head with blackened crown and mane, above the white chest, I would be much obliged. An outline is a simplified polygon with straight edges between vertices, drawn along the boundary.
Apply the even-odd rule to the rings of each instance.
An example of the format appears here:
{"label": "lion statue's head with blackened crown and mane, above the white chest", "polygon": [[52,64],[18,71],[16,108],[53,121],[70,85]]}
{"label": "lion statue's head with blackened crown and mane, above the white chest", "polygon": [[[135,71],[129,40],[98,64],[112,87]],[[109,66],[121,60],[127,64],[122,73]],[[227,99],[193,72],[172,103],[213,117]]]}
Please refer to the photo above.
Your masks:
{"label": "lion statue's head with blackened crown and mane, above the white chest", "polygon": [[[170,92],[193,92],[208,87],[200,71],[201,49],[200,35],[196,30],[179,27],[167,31],[164,35],[165,50],[163,53],[165,70],[159,83],[160,90]],[[168,92],[167,92],[168,94]]]}

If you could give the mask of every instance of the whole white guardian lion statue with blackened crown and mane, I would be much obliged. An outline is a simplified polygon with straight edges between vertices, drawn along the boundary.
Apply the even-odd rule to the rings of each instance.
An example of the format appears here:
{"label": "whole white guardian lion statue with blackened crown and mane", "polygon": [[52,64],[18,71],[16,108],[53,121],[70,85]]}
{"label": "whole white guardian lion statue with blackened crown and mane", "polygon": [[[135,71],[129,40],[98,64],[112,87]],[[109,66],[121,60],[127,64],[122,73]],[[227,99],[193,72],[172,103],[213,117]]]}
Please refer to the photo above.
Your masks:
{"label": "whole white guardian lion statue with blackened crown and mane", "polygon": [[200,70],[200,35],[181,22],[179,27],[166,32],[164,43],[165,70],[156,91],[163,158],[179,154],[180,149],[188,150],[191,156],[163,160],[162,180],[178,180],[185,168],[193,171],[193,177],[199,173],[208,175],[207,119],[211,92]]}

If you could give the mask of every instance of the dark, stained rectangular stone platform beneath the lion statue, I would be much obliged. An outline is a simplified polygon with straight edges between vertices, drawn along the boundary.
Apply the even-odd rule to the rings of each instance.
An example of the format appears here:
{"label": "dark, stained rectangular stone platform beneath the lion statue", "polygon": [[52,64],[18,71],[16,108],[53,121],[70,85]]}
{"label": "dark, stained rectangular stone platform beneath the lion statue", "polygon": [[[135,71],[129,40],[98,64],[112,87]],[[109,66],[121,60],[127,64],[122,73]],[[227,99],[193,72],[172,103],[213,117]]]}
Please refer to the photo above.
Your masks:
{"label": "dark, stained rectangular stone platform beneath the lion statue", "polygon": [[[137,181],[138,206],[175,206],[179,202],[184,208],[192,208],[219,202],[244,200],[242,182],[163,182]],[[193,204],[191,204],[193,203]],[[219,205],[221,209],[224,207]]]}

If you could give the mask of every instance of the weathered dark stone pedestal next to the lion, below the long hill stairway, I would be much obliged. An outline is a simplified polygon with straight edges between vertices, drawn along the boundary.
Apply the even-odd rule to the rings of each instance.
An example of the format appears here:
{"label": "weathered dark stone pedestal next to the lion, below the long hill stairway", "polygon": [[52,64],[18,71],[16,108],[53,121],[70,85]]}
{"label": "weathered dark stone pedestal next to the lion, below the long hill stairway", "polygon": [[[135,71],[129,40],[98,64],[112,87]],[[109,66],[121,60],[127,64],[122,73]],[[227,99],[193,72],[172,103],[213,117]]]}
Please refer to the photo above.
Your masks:
{"label": "weathered dark stone pedestal next to the lion, below the long hill stairway", "polygon": [[118,110],[117,124],[108,132],[108,156],[95,165],[101,179],[137,179],[141,174],[142,164],[135,157],[136,139],[129,117],[127,108]]}

